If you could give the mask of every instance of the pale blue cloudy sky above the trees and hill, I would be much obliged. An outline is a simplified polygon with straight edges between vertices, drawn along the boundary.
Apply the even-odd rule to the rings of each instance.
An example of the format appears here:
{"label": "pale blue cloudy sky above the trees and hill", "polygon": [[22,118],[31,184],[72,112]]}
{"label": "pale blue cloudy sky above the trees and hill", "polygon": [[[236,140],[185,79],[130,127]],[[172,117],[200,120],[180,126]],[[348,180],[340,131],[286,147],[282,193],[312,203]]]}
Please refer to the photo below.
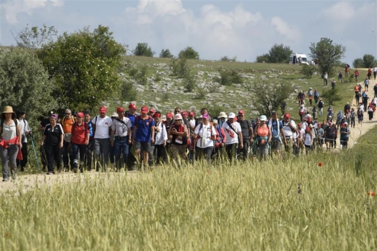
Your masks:
{"label": "pale blue cloudy sky above the trees and hill", "polygon": [[[26,24],[55,26],[59,34],[109,26],[117,42],[148,43],[177,55],[187,46],[200,59],[255,62],[274,44],[309,56],[326,37],[346,47],[342,62],[377,58],[377,1],[0,0],[0,43],[15,45]],[[129,52],[130,53],[130,52]]]}

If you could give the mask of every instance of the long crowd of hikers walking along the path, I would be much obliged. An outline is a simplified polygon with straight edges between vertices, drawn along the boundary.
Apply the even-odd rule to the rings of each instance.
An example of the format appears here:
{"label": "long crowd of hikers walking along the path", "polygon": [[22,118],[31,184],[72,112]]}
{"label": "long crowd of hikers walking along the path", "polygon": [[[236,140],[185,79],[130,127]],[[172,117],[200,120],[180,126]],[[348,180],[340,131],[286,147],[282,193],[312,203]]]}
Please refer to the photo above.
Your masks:
{"label": "long crowd of hikers walking along the path", "polygon": [[[374,76],[375,73],[373,69]],[[42,133],[39,147],[42,171],[50,175],[55,171],[83,173],[92,168],[121,171],[153,169],[163,163],[182,166],[195,161],[280,158],[283,154],[296,156],[336,148],[338,137],[340,148],[346,149],[350,128],[362,126],[364,112],[369,120],[373,119],[377,83],[373,87],[374,97],[368,103],[369,78],[365,79],[364,88],[361,84],[354,87],[357,108],[347,102],[337,113],[331,105],[324,113],[325,103],[316,89],[309,88],[306,95],[300,92],[296,121],[285,113],[286,102],[281,105],[280,117],[277,111],[272,111],[268,118],[261,115],[250,121],[242,109],[229,114],[222,111],[211,117],[207,108],[196,115],[194,111],[176,107],[174,112],[163,115],[147,106],[139,109],[134,103],[128,109],[117,107],[111,117],[107,116],[105,106],[95,114],[66,109],[62,118],[51,110],[46,118],[40,118],[38,127]],[[305,107],[305,98],[310,105],[314,102],[312,109]],[[26,136],[33,134],[24,118],[24,110],[13,111],[11,106],[6,106],[1,115],[3,181],[8,181],[10,175],[16,179],[18,168],[22,172],[28,163]],[[33,137],[30,138],[34,147]]]}

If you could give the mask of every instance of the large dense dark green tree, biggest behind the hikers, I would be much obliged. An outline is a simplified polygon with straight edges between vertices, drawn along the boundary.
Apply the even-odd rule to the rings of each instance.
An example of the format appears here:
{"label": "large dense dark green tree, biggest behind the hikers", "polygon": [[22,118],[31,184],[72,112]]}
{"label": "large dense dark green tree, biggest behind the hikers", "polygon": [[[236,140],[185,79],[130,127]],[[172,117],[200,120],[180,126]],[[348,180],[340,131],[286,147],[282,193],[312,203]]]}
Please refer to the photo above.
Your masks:
{"label": "large dense dark green tree, biggest behind the hikers", "polygon": [[38,57],[56,85],[52,98],[61,109],[97,109],[120,87],[118,68],[126,49],[114,40],[109,27],[88,27],[42,46]]}

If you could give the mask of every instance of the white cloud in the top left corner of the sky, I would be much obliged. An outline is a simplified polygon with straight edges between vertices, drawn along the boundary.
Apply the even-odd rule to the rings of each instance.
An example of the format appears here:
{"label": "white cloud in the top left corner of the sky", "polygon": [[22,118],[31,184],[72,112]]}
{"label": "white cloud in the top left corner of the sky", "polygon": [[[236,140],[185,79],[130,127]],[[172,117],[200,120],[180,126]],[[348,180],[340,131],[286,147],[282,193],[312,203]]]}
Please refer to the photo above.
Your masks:
{"label": "white cloud in the top left corner of the sky", "polygon": [[18,23],[17,15],[20,13],[26,13],[32,15],[36,9],[44,8],[49,3],[52,3],[53,7],[62,7],[64,2],[61,0],[38,0],[38,1],[7,1],[0,4],[0,9],[5,12],[5,18],[8,23]]}

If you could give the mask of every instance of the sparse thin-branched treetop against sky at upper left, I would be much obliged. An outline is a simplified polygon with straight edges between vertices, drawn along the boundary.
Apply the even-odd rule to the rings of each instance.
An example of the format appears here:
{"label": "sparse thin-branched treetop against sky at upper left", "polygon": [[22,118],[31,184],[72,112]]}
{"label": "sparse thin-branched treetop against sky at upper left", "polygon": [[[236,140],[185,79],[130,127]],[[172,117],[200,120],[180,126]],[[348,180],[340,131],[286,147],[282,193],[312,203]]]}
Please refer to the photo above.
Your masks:
{"label": "sparse thin-branched treetop against sky at upper left", "polygon": [[26,27],[20,31],[11,31],[14,40],[16,40],[17,46],[26,49],[37,49],[42,45],[52,42],[58,36],[58,31],[54,26],[47,27],[43,24],[43,27],[38,30],[38,26]]}

